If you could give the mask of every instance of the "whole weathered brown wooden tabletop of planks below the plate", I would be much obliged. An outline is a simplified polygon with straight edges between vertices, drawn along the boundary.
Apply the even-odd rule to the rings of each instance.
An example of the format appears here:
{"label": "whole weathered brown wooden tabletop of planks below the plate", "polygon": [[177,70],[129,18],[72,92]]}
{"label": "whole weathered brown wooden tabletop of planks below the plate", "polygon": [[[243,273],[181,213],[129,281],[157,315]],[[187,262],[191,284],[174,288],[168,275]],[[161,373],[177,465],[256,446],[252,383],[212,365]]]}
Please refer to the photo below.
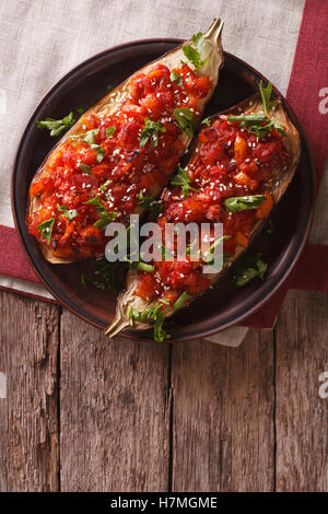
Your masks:
{"label": "whole weathered brown wooden tabletop of planks below the plate", "polygon": [[328,490],[326,294],[291,291],[236,349],[108,342],[59,306],[0,304],[1,491]]}

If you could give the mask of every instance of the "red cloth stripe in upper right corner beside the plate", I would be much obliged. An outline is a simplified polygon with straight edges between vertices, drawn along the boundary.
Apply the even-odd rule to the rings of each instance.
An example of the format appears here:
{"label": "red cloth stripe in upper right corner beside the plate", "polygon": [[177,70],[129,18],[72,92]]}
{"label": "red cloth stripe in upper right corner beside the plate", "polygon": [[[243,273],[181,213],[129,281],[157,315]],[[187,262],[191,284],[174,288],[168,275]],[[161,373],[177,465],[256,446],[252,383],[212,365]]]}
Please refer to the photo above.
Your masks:
{"label": "red cloth stripe in upper right corner beside the plate", "polygon": [[306,0],[286,100],[305,131],[315,162],[318,185],[328,149],[327,43],[327,3],[323,0]]}

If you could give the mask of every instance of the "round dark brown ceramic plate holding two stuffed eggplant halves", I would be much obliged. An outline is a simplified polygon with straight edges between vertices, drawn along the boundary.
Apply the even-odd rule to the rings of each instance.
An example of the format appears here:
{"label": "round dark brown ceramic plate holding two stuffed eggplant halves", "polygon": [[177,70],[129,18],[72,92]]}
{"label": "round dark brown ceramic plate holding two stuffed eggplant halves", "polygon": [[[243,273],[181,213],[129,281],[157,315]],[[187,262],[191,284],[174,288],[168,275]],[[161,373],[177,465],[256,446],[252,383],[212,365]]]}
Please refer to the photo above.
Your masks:
{"label": "round dark brown ceramic plate holding two stuffed eggplant halves", "polygon": [[[22,244],[38,277],[48,290],[70,311],[91,324],[105,328],[112,322],[116,299],[110,291],[81,283],[81,272],[91,268],[90,262],[50,265],[25,226],[27,191],[30,183],[55,145],[56,140],[37,130],[36,120],[47,116],[61,118],[73,107],[90,106],[106,94],[108,83],[118,85],[132,72],[180,44],[179,39],[143,39],[110,48],[70,71],[43,98],[23,133],[12,177],[12,205],[16,229]],[[226,109],[257,92],[262,78],[241,59],[225,54],[225,65],[212,102],[204,116]],[[276,93],[281,97],[279,92]],[[283,98],[282,98],[283,100]],[[315,174],[307,143],[300,122],[283,100],[302,139],[302,154],[292,184],[273,212],[274,233],[263,231],[251,244],[249,252],[261,252],[269,262],[263,282],[254,280],[235,290],[227,274],[220,289],[211,290],[190,307],[176,315],[167,327],[171,341],[194,339],[214,334],[253,314],[282,284],[294,267],[308,235],[315,191]],[[152,339],[152,331],[125,334],[134,339]]]}

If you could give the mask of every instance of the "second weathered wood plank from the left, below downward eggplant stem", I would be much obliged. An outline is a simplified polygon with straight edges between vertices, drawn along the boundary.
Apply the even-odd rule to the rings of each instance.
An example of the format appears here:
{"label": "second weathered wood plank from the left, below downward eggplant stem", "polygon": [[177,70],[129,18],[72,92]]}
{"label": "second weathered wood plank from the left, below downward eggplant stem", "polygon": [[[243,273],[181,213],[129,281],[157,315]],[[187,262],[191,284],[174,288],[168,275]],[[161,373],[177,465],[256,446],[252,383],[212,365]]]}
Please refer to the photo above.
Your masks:
{"label": "second weathered wood plank from the left, below downward eggplant stem", "polygon": [[61,319],[62,491],[165,491],[168,344],[114,342]]}

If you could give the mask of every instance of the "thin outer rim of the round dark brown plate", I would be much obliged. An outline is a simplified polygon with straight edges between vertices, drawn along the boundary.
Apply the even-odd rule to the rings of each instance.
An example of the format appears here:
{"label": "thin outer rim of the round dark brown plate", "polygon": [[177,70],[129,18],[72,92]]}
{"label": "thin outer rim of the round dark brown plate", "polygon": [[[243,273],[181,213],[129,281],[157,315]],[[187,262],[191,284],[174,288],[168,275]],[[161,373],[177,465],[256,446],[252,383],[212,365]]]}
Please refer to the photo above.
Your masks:
{"label": "thin outer rim of the round dark brown plate", "polygon": [[[28,247],[27,247],[27,244],[25,244],[25,241],[23,238],[23,234],[21,232],[21,227],[20,227],[20,224],[19,224],[19,221],[17,221],[17,215],[16,215],[16,202],[15,202],[15,196],[14,196],[14,183],[15,183],[15,177],[16,177],[16,173],[17,173],[17,164],[19,164],[19,159],[20,159],[20,153],[21,153],[21,148],[22,148],[22,144],[25,140],[25,137],[27,135],[27,132],[30,131],[31,127],[33,126],[34,124],[34,119],[38,113],[38,110],[45,105],[45,103],[47,102],[47,100],[49,98],[49,96],[51,96],[51,94],[58,89],[58,86],[60,86],[65,81],[67,81],[72,74],[74,74],[77,71],[79,71],[80,69],[83,69],[85,66],[87,66],[89,63],[92,63],[93,61],[102,58],[103,56],[106,56],[110,52],[114,52],[114,51],[117,51],[117,50],[121,50],[121,49],[125,49],[125,48],[130,48],[131,46],[139,46],[139,45],[144,45],[144,44],[161,44],[161,43],[172,43],[172,44],[176,44],[177,46],[180,45],[181,43],[184,42],[184,39],[179,39],[179,38],[173,38],[173,37],[155,37],[155,38],[143,38],[143,39],[137,39],[137,40],[131,40],[131,42],[126,42],[126,43],[122,43],[122,44],[119,44],[119,45],[115,45],[115,46],[112,46],[109,48],[106,48],[105,50],[102,50],[97,54],[94,54],[93,56],[89,57],[87,59],[85,59],[84,61],[80,62],[79,65],[77,65],[74,68],[72,68],[71,70],[69,70],[63,77],[61,77],[50,89],[48,89],[48,91],[45,93],[45,95],[42,97],[42,100],[38,102],[36,108],[33,110],[33,113],[31,114],[30,118],[28,118],[28,121],[23,130],[23,133],[22,133],[22,137],[20,139],[20,142],[19,142],[19,145],[17,145],[17,149],[16,149],[16,152],[15,152],[15,156],[14,156],[14,161],[13,161],[13,167],[12,167],[12,173],[11,173],[11,210],[12,210],[12,215],[13,215],[13,220],[14,220],[14,226],[15,226],[15,230],[19,234],[19,240],[20,240],[20,244],[21,244],[21,247],[23,248],[24,250],[24,254],[26,255],[27,257],[27,260],[28,262],[31,264],[34,272],[36,273],[36,276],[40,279],[42,283],[46,287],[46,289],[51,293],[51,295],[59,302],[59,304],[61,306],[65,306],[66,308],[68,308],[72,314],[79,316],[81,319],[83,319],[84,322],[91,324],[92,326],[95,326],[97,328],[101,328],[102,330],[104,330],[104,327],[99,324],[97,324],[96,322],[90,319],[89,317],[86,317],[85,315],[79,313],[75,308],[73,308],[71,305],[69,305],[65,300],[62,300],[62,297],[57,294],[57,292],[55,292],[51,288],[51,285],[48,283],[48,281],[42,276],[42,272],[37,269],[36,265],[34,264],[34,260],[32,258],[32,255],[30,254],[28,252]],[[241,59],[239,57],[235,56],[234,54],[231,54],[229,51],[223,51],[224,54],[224,57],[229,57],[235,61],[237,61],[239,65],[242,65],[243,67],[246,67],[249,71],[251,71],[254,74],[258,75],[260,79],[265,80],[266,82],[268,82],[268,79],[262,75],[262,73],[260,73],[258,70],[256,70],[253,66],[248,65],[246,61],[244,61],[243,59]],[[165,54],[163,54],[165,55]],[[223,63],[224,66],[224,63]],[[137,70],[138,71],[138,70]],[[198,331],[197,334],[191,334],[189,336],[186,336],[184,337],[183,335],[181,336],[178,336],[178,337],[175,337],[173,339],[168,339],[168,340],[165,340],[164,342],[167,342],[167,343],[174,343],[174,342],[183,342],[183,341],[191,341],[191,340],[195,340],[195,339],[202,339],[202,338],[207,338],[207,337],[210,337],[210,336],[213,336],[214,334],[219,334],[221,332],[222,330],[225,330],[230,327],[233,327],[233,326],[236,326],[238,324],[241,324],[243,320],[245,320],[247,317],[251,316],[253,314],[255,314],[257,311],[259,311],[265,304],[267,304],[267,302],[270,301],[270,299],[274,295],[274,293],[277,293],[277,291],[282,287],[282,284],[284,282],[286,282],[288,278],[290,277],[291,272],[293,271],[296,262],[298,261],[300,259],[300,256],[304,249],[304,246],[308,240],[308,236],[309,236],[309,232],[311,232],[311,229],[312,229],[312,224],[313,224],[313,219],[314,219],[314,211],[315,211],[315,197],[316,197],[316,185],[317,185],[317,180],[316,180],[316,173],[315,173],[315,165],[314,165],[314,159],[313,159],[313,155],[312,155],[312,152],[311,152],[311,149],[309,149],[309,145],[308,145],[308,141],[307,141],[307,138],[304,133],[304,130],[303,130],[303,127],[301,125],[301,122],[298,121],[298,118],[296,116],[296,114],[294,113],[294,109],[292,108],[292,106],[290,105],[290,103],[286,101],[286,98],[284,97],[284,95],[282,95],[282,93],[280,93],[280,91],[272,84],[272,90],[274,91],[274,93],[282,100],[283,104],[286,106],[288,110],[292,114],[292,117],[297,121],[297,130],[300,132],[300,136],[301,136],[301,140],[302,142],[304,143],[304,148],[302,148],[302,152],[305,152],[306,153],[306,156],[308,159],[308,163],[309,163],[309,170],[311,170],[311,183],[312,183],[312,205],[311,205],[311,211],[309,211],[309,217],[307,219],[307,224],[306,224],[306,230],[304,231],[304,233],[302,234],[302,241],[301,243],[298,244],[297,246],[297,250],[293,257],[292,260],[289,261],[289,265],[286,266],[285,268],[285,271],[283,272],[282,277],[280,277],[280,279],[274,283],[274,287],[270,290],[270,292],[268,294],[265,295],[265,297],[262,297],[261,300],[259,300],[258,302],[256,302],[256,304],[253,306],[253,307],[249,307],[246,312],[244,312],[244,314],[239,314],[238,316],[236,316],[233,320],[230,320],[230,322],[226,322],[224,323],[223,325],[220,326],[220,328],[209,328],[209,329],[203,329],[203,330],[200,330]],[[302,153],[301,153],[302,154]],[[297,168],[296,168],[297,170]],[[124,337],[126,339],[131,339],[131,340],[138,340],[138,341],[154,341],[153,339],[149,338],[149,337],[142,337],[142,334],[143,332],[138,332],[137,330],[134,330],[133,332],[130,331],[129,332],[122,332],[120,334],[120,337]],[[155,341],[154,341],[155,342]]]}

